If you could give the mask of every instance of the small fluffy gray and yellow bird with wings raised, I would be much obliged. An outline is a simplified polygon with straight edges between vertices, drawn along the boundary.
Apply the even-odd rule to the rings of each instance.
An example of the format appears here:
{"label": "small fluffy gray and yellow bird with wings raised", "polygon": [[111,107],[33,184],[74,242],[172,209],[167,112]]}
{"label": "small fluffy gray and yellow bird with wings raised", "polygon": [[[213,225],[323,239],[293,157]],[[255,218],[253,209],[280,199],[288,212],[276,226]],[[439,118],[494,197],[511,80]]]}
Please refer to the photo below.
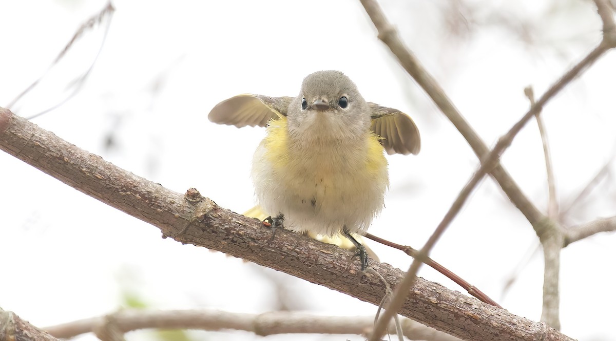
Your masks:
{"label": "small fluffy gray and yellow bird with wings raised", "polygon": [[[368,267],[364,235],[384,208],[387,154],[418,154],[419,130],[407,114],[367,102],[341,71],[304,78],[297,96],[243,94],[216,104],[211,122],[266,127],[253,155],[257,205],[276,227],[344,235]],[[274,218],[272,218],[274,217]]]}

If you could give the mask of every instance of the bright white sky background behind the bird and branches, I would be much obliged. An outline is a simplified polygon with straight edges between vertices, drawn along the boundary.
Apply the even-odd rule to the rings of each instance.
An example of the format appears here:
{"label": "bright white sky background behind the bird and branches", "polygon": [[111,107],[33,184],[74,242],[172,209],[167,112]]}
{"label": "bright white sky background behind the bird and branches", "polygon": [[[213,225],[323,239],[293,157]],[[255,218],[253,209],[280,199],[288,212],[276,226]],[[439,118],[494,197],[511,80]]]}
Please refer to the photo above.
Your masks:
{"label": "bright white sky background behind the bird and branches", "polygon": [[[458,109],[493,144],[538,97],[601,39],[591,1],[560,6],[535,1],[382,1],[392,23]],[[49,67],[75,30],[103,1],[0,2],[0,106]],[[177,192],[196,187],[219,205],[253,206],[251,155],[264,130],[214,125],[207,114],[240,93],[295,96],[304,76],[339,69],[369,101],[401,109],[422,134],[418,157],[389,156],[391,192],[371,233],[421,247],[477,167],[452,124],[397,65],[359,1],[115,1],[102,53],[84,88],[33,121],[119,167]],[[445,24],[460,24],[460,35]],[[508,28],[509,27],[509,28]],[[522,27],[532,44],[522,41]],[[18,114],[31,116],[64,98],[64,88],[97,52],[102,28],[84,36],[59,71],[28,94]],[[557,190],[566,205],[612,158],[616,57],[608,53],[543,111]],[[113,136],[115,144],[105,147]],[[541,210],[545,165],[531,122],[503,164]],[[612,172],[613,175],[613,172]],[[103,205],[7,154],[0,154],[0,307],[37,326],[103,315],[123,292],[153,308],[267,312],[277,297],[323,315],[369,315],[376,307],[221,253],[163,240],[155,227]],[[567,224],[614,215],[614,186],[603,181]],[[562,331],[584,340],[614,339],[616,235],[597,235],[562,252]],[[512,269],[537,245],[521,213],[491,179],[472,195],[434,249],[436,261],[510,312],[541,313],[543,260],[536,253],[502,294]],[[370,244],[381,261],[406,269],[411,259]],[[427,267],[420,273],[456,284]],[[272,278],[283,283],[276,289]],[[282,291],[282,292],[281,292]],[[210,338],[261,339],[246,332]],[[132,333],[137,339],[142,333]],[[200,335],[203,337],[203,335]],[[289,335],[268,337],[285,340]],[[314,339],[300,335],[297,339]],[[357,335],[323,340],[361,340]],[[83,339],[93,339],[87,335]]]}

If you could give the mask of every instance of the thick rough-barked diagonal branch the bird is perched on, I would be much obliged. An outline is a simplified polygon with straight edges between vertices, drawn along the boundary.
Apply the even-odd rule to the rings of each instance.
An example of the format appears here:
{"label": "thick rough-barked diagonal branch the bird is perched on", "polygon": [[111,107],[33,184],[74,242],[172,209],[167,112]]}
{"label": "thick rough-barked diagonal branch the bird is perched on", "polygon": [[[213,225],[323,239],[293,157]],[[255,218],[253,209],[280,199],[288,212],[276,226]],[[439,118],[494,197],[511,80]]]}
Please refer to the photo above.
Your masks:
{"label": "thick rough-barked diagonal branch the bird is perched on", "polygon": [[[163,237],[204,246],[274,268],[378,305],[386,286],[362,275],[349,251],[298,233],[272,233],[255,219],[225,210],[197,190],[182,196],[115,167],[101,157],[0,109],[0,149],[107,205],[155,225]],[[397,286],[403,273],[372,262]],[[465,340],[570,340],[542,323],[520,318],[419,278],[400,314]]]}

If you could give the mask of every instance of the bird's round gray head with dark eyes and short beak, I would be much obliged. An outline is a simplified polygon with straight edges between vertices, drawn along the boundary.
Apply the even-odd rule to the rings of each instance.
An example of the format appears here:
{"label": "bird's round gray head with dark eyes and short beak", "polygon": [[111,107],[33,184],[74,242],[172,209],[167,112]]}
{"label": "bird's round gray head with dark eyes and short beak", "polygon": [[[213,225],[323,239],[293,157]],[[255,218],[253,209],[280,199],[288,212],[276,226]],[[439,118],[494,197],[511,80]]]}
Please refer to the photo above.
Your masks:
{"label": "bird's round gray head with dark eyes and short beak", "polygon": [[299,139],[360,139],[370,131],[370,108],[340,71],[309,74],[287,116],[291,136]]}

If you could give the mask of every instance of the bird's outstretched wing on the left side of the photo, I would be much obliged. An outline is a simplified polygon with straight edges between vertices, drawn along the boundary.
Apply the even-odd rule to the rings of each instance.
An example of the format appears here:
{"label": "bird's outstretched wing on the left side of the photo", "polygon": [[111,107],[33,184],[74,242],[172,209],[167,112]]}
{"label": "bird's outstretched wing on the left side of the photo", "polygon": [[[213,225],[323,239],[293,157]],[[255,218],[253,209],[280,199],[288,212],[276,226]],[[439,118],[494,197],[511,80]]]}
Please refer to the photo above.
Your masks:
{"label": "bird's outstretched wing on the left side of the photo", "polygon": [[270,97],[246,93],[216,104],[209,112],[208,119],[214,123],[235,125],[241,128],[249,125],[265,127],[270,119],[286,116],[293,97]]}

